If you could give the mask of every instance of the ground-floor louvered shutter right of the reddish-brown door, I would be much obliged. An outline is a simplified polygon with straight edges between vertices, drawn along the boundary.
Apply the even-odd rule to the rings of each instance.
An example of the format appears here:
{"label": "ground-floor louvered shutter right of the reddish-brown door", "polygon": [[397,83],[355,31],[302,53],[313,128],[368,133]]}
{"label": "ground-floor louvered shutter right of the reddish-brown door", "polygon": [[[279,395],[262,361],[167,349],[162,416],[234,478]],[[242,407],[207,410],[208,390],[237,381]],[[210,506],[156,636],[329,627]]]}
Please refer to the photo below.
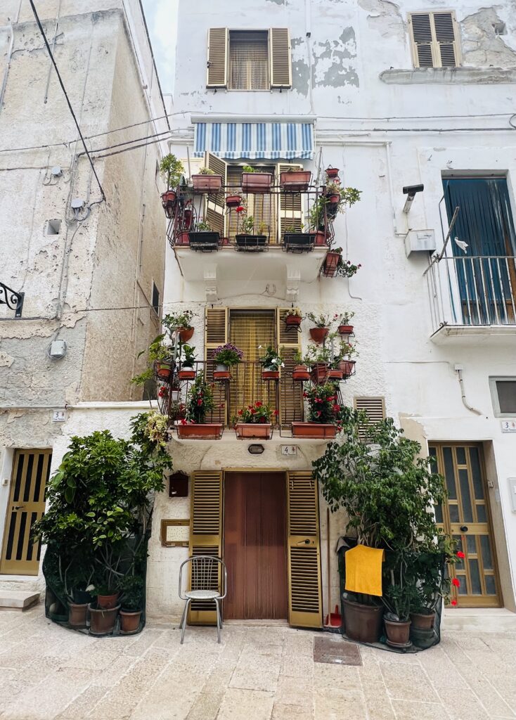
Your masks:
{"label": "ground-floor louvered shutter right of the reddish-brown door", "polygon": [[322,626],[319,498],[309,472],[287,473],[289,624]]}

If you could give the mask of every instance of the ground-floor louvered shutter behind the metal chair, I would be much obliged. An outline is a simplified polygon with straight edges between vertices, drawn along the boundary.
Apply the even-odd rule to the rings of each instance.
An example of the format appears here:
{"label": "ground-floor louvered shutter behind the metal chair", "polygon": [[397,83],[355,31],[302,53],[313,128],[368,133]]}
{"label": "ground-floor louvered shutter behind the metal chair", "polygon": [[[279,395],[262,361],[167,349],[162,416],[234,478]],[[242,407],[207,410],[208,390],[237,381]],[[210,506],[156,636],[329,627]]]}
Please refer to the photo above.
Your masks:
{"label": "ground-floor louvered shutter behind the metal chair", "polygon": [[[190,557],[222,557],[222,472],[194,472],[191,485]],[[219,590],[220,582],[218,571],[209,578],[208,588],[196,588],[196,577],[191,575],[190,588]],[[194,600],[188,621],[191,625],[215,625],[217,613],[214,602]]]}

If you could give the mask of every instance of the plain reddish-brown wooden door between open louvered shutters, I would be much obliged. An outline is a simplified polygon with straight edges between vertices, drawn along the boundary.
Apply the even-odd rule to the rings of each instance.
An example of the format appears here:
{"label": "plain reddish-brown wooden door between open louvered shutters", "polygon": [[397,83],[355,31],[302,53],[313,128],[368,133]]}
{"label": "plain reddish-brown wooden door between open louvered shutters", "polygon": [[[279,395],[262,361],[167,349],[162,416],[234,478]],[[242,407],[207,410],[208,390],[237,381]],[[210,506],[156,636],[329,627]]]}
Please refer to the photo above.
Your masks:
{"label": "plain reddish-brown wooden door between open louvered shutters", "polygon": [[227,472],[224,487],[224,618],[287,618],[286,478]]}

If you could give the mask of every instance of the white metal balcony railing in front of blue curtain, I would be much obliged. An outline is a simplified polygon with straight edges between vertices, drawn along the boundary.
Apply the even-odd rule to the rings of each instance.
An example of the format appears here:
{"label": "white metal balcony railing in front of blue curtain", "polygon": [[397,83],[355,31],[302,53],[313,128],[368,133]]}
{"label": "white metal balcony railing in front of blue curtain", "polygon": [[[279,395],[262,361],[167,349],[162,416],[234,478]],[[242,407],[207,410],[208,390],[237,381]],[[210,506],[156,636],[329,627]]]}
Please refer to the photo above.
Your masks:
{"label": "white metal balcony railing in front of blue curtain", "polygon": [[425,271],[433,332],[443,325],[516,325],[516,258],[435,258]]}

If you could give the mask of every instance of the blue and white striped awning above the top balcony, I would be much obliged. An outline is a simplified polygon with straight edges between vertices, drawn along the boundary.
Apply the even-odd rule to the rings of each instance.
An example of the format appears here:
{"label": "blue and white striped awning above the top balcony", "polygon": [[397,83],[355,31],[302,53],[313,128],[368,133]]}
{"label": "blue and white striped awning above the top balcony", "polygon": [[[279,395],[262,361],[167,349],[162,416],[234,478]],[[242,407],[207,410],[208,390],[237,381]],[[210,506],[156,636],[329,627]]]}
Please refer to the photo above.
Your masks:
{"label": "blue and white striped awning above the top balcony", "polygon": [[312,122],[194,122],[194,157],[205,152],[218,158],[314,157]]}

